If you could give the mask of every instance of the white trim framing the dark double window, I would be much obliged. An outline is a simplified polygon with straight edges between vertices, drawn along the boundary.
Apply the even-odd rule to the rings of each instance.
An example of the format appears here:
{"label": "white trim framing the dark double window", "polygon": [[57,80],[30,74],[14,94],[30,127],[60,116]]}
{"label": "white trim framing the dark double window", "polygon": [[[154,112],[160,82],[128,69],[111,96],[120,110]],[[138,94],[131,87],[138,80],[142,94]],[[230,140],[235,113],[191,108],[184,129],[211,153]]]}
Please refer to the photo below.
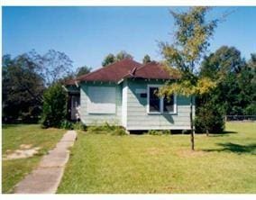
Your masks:
{"label": "white trim framing the dark double window", "polygon": [[148,85],[147,86],[147,114],[177,114],[177,95],[174,94],[173,112],[163,111],[163,97],[160,97],[160,112],[150,112],[150,88],[158,87],[163,85]]}

